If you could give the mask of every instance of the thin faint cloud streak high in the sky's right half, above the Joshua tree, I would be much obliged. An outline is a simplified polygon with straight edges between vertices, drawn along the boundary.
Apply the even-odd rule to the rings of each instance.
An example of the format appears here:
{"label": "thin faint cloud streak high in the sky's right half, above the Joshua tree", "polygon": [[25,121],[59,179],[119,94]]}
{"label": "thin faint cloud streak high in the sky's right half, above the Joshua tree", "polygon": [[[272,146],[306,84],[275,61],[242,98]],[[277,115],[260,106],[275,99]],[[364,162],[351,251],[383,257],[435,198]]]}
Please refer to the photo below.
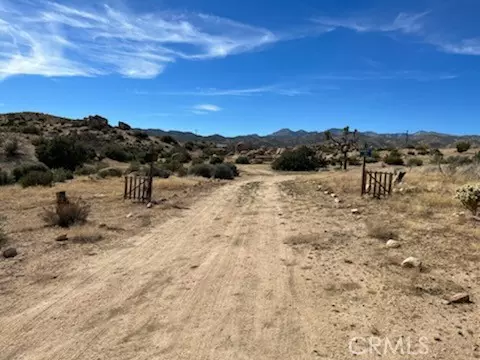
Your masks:
{"label": "thin faint cloud streak high in the sky's right half, above the Joshua tree", "polygon": [[416,34],[422,31],[422,20],[428,14],[428,11],[415,14],[401,12],[393,19],[387,21],[368,17],[317,17],[313,21],[333,29],[345,28],[356,32],[402,32],[405,34]]}

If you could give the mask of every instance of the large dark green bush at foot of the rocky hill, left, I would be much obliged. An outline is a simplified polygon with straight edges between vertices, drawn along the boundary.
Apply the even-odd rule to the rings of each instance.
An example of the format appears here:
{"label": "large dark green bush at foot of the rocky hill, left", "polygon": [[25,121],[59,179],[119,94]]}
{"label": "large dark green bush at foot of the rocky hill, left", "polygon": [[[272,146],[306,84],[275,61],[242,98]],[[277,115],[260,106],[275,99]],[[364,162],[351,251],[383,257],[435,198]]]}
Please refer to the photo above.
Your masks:
{"label": "large dark green bush at foot of the rocky hill, left", "polygon": [[95,151],[91,148],[63,136],[43,141],[36,147],[35,152],[38,160],[48,167],[72,171],[95,157]]}

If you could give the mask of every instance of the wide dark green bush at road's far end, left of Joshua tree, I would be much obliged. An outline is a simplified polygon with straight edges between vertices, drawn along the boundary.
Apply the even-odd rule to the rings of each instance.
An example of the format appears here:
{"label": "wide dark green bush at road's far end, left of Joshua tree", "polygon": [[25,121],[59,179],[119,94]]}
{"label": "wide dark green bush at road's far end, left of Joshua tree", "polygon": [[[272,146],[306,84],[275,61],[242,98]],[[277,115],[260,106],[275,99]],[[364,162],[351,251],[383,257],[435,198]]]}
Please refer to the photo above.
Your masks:
{"label": "wide dark green bush at road's far end, left of Joshua tree", "polygon": [[283,171],[313,171],[324,167],[324,159],[318,159],[315,151],[301,146],[292,151],[285,151],[279,158],[272,163],[272,169]]}

